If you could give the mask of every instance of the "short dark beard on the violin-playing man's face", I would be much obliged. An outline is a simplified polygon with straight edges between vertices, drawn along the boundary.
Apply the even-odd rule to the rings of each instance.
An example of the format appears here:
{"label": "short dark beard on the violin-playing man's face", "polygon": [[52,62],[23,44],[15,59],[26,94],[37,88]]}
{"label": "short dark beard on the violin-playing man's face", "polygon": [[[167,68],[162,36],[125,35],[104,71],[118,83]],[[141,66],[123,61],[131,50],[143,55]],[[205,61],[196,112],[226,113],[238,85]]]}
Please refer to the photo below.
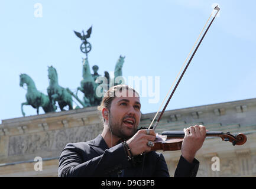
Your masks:
{"label": "short dark beard on the violin-playing man's face", "polygon": [[[109,112],[109,129],[111,130],[112,135],[115,135],[118,138],[122,138],[122,139],[131,138],[137,132],[137,128],[138,128],[138,126],[136,125],[137,120],[135,120],[134,127],[131,128],[131,130],[128,129],[128,131],[127,129],[125,129],[125,126],[123,126],[123,120],[124,119],[115,120],[112,117],[111,113]],[[128,133],[125,131],[127,131]]]}

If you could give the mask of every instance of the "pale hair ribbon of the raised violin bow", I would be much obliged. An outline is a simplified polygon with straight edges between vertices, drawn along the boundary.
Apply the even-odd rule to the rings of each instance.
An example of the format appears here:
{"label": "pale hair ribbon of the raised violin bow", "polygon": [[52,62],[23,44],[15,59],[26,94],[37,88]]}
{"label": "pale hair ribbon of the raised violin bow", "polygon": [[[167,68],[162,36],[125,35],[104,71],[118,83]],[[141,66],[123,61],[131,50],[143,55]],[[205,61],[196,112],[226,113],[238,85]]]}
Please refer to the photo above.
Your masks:
{"label": "pale hair ribbon of the raised violin bow", "polygon": [[[210,14],[210,17],[212,17],[212,14],[213,14],[214,11],[215,11],[215,9],[213,9],[212,13]],[[150,123],[150,126],[148,127],[148,129],[150,129],[151,126],[153,125],[154,120],[155,120],[155,118],[157,117],[157,115],[158,115],[158,113],[159,113],[161,107],[163,106],[164,102],[166,101],[167,97],[169,96],[169,94],[170,94],[170,92],[171,92],[171,89],[173,88],[174,84],[176,83],[176,81],[177,81],[177,79],[178,79],[180,73],[181,73],[182,70],[184,69],[184,66],[185,66],[185,64],[186,64],[187,59],[190,57],[190,54],[191,54],[192,51],[194,50],[194,48],[195,48],[195,46],[196,46],[196,44],[197,44],[197,42],[198,42],[200,36],[202,35],[202,32],[205,30],[205,27],[206,27],[206,25],[208,24],[208,22],[209,22],[209,20],[210,20],[210,17],[209,17],[208,20],[206,21],[206,24],[205,24],[205,26],[203,27],[203,30],[200,32],[199,37],[198,37],[197,40],[196,40],[196,43],[193,45],[192,49],[190,50],[189,55],[187,56],[186,60],[184,61],[183,66],[182,66],[182,68],[180,69],[179,73],[177,74],[176,79],[174,80],[173,84],[171,85],[170,90],[169,90],[168,93],[166,94],[166,97],[164,97],[164,100],[163,100],[163,102],[161,103],[161,106],[160,106],[159,109],[157,110],[157,113],[155,113],[154,119],[153,119],[152,122]],[[156,122],[156,124],[155,124],[155,126],[154,126],[153,129],[155,129],[155,127],[157,126],[157,124],[158,124],[158,122]]]}

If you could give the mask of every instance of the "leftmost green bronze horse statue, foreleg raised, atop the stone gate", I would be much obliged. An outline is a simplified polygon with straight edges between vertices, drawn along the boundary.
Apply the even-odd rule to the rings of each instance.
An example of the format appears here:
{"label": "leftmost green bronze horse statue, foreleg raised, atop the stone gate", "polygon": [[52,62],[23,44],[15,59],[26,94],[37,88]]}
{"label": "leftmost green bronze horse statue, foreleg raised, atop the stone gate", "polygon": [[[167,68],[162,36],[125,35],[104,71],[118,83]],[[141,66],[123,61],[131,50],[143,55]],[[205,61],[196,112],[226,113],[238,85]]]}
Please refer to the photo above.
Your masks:
{"label": "leftmost green bronze horse statue, foreleg raised, atop the stone gate", "polygon": [[45,113],[55,112],[56,106],[54,106],[49,97],[46,94],[43,94],[37,90],[35,87],[34,81],[27,74],[20,74],[20,86],[27,84],[27,94],[26,100],[27,102],[21,103],[21,113],[25,116],[23,111],[24,105],[31,105],[32,107],[37,109],[37,115],[39,113],[39,107],[42,107]]}

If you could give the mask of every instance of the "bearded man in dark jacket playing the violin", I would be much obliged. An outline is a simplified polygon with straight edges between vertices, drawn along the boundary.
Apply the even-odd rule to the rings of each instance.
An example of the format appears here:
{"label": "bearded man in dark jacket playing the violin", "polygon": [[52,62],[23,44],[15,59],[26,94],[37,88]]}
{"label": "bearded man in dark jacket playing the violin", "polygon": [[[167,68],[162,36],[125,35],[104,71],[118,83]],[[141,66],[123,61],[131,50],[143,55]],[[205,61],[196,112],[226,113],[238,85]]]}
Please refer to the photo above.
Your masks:
{"label": "bearded man in dark jacket playing the violin", "polygon": [[[88,142],[69,143],[59,161],[59,177],[169,177],[163,154],[151,151],[155,132],[139,129],[141,103],[126,85],[111,87],[98,107],[103,131]],[[206,137],[205,126],[184,129],[182,154],[174,177],[196,177],[196,152]]]}

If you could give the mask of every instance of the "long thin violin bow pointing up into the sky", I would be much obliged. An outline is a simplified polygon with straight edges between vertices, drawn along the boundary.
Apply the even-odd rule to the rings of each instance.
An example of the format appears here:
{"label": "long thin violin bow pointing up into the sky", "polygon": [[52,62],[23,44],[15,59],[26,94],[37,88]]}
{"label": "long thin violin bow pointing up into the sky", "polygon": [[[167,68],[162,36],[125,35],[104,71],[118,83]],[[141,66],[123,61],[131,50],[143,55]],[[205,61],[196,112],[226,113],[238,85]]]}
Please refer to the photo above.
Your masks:
{"label": "long thin violin bow pointing up into the sky", "polygon": [[159,123],[159,121],[160,121],[160,119],[161,119],[161,117],[162,117],[164,111],[166,110],[166,107],[167,107],[168,103],[169,103],[170,100],[171,100],[171,97],[173,97],[173,94],[174,94],[175,90],[177,89],[177,86],[178,86],[179,83],[180,83],[180,80],[182,80],[182,77],[183,77],[184,73],[186,72],[187,67],[189,67],[190,62],[192,61],[193,57],[194,57],[195,54],[196,54],[197,49],[199,48],[200,44],[201,44],[202,41],[203,41],[203,38],[205,37],[206,33],[208,32],[208,30],[209,30],[209,28],[210,28],[210,25],[212,25],[212,22],[213,22],[214,19],[216,18],[216,15],[218,15],[219,10],[220,10],[220,8],[219,8],[219,6],[217,5],[217,6],[215,6],[215,8],[213,9],[212,14],[210,14],[210,17],[212,17],[213,12],[217,11],[216,14],[215,14],[215,16],[212,18],[212,21],[210,22],[210,24],[209,24],[208,28],[206,29],[205,33],[203,34],[201,40],[200,40],[199,43],[197,44],[197,41],[199,40],[200,36],[202,35],[202,32],[205,30],[205,27],[206,27],[206,25],[208,24],[210,17],[209,17],[208,20],[206,21],[206,24],[205,24],[205,26],[203,27],[203,30],[200,32],[200,35],[199,35],[199,37],[197,38],[196,43],[193,45],[192,50],[190,50],[189,55],[187,56],[186,60],[185,60],[184,63],[183,63],[182,69],[183,69],[183,67],[184,67],[184,65],[185,65],[185,63],[186,63],[186,61],[187,61],[187,59],[189,58],[190,54],[192,53],[193,49],[195,48],[195,45],[197,44],[197,47],[196,47],[195,51],[193,52],[192,56],[190,57],[190,59],[189,59],[187,65],[186,65],[185,69],[183,70],[183,72],[182,72],[182,74],[181,74],[181,76],[180,76],[178,82],[176,83],[176,86],[174,87],[173,92],[171,92],[171,89],[172,89],[174,83],[176,82],[177,78],[179,77],[180,72],[182,71],[182,69],[180,69],[179,73],[177,74],[176,79],[174,80],[173,84],[171,85],[170,90],[168,91],[166,97],[164,98],[164,100],[163,100],[161,106],[159,107],[157,113],[155,114],[154,119],[153,119],[152,122],[150,123],[150,126],[148,127],[148,129],[150,129],[151,126],[153,125],[154,120],[155,120],[155,118],[157,117],[157,115],[158,115],[158,113],[159,113],[161,107],[163,106],[164,102],[166,101],[166,98],[167,98],[168,94],[170,94],[170,92],[171,92],[171,95],[170,95],[170,97],[168,98],[168,100],[167,100],[167,102],[166,102],[166,105],[164,106],[163,110],[162,110],[161,113],[160,113],[160,116],[158,117],[157,121],[155,122],[155,124],[154,124],[154,126],[153,126],[153,130],[155,130],[155,128],[157,127],[157,125],[158,125],[158,123]]}

